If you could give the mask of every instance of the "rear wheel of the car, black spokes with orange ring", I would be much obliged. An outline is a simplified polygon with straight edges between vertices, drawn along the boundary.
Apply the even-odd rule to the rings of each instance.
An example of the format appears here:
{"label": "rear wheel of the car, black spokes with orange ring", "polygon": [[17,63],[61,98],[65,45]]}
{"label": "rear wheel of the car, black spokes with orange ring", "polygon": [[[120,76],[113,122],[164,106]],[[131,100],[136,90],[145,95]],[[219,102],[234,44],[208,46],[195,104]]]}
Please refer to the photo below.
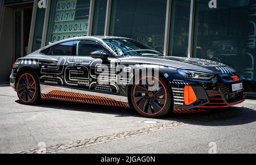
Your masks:
{"label": "rear wheel of the car, black spokes with orange ring", "polygon": [[16,91],[23,104],[35,104],[40,100],[40,84],[31,71],[24,71],[17,77]]}

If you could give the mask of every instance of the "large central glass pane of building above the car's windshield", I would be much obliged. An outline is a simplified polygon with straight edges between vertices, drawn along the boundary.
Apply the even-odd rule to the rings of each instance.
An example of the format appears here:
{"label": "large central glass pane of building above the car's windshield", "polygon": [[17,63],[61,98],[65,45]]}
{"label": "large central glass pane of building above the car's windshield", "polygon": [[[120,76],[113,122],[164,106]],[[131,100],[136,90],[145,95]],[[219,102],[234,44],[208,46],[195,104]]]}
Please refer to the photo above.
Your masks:
{"label": "large central glass pane of building above the car's windshield", "polygon": [[142,41],[163,52],[167,0],[113,0],[110,35]]}

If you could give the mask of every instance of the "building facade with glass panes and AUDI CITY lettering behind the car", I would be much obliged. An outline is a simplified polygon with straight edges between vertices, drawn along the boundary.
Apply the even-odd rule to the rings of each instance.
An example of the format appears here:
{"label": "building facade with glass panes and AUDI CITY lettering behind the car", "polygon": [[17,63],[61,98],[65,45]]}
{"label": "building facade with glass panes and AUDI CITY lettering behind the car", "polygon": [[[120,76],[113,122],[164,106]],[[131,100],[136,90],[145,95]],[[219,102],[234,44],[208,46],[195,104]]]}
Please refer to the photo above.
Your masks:
{"label": "building facade with glass panes and AUDI CITY lettering behind the car", "polygon": [[76,36],[129,37],[165,56],[205,58],[234,67],[256,95],[256,0],[1,1],[5,81],[16,58]]}

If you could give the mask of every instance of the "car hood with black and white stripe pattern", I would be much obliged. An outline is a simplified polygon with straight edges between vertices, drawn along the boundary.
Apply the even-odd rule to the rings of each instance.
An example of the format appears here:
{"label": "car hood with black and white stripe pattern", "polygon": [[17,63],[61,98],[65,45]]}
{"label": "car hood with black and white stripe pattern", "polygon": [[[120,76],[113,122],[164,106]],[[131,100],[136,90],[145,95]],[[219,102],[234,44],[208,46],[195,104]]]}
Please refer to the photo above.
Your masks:
{"label": "car hood with black and white stripe pattern", "polygon": [[208,73],[236,73],[232,67],[220,62],[187,57],[123,57],[121,64],[150,64],[170,67],[171,69],[187,69]]}

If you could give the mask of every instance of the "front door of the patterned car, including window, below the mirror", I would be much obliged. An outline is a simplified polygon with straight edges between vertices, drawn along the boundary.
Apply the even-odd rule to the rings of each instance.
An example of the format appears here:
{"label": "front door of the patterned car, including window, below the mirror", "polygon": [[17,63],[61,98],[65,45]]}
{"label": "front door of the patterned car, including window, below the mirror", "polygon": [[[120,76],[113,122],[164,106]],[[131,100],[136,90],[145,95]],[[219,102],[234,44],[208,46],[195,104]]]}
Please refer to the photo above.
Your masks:
{"label": "front door of the patterned car, including window, below the mirror", "polygon": [[99,93],[119,94],[119,87],[115,83],[116,73],[111,76],[108,74],[110,69],[115,68],[113,65],[117,65],[118,60],[109,58],[109,62],[102,62],[101,59],[90,57],[90,53],[96,50],[108,52],[104,46],[96,41],[77,41],[76,50],[77,56],[73,58],[76,72],[73,74],[76,75],[74,78],[77,80],[77,88]]}

